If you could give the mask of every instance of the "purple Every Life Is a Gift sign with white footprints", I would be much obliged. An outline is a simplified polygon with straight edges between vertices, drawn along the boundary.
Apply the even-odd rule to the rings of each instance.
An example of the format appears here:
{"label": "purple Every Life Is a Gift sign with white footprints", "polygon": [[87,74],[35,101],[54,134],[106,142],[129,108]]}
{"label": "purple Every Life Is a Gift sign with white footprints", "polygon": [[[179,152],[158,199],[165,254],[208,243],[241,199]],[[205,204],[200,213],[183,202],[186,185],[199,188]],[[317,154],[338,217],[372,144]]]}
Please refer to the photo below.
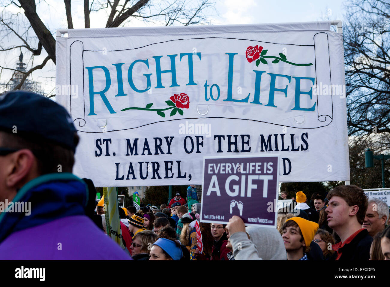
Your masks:
{"label": "purple Every Life Is a Gift sign with white footprints", "polygon": [[280,155],[204,157],[201,222],[276,227]]}

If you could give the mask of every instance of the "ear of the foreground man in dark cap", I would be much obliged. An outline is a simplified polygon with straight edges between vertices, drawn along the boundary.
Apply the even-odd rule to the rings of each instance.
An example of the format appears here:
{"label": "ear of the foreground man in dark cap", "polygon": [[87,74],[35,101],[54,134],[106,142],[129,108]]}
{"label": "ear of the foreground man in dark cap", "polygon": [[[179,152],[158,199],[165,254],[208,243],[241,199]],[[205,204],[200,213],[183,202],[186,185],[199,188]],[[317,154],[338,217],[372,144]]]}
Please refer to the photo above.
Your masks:
{"label": "ear of the foreground man in dark cap", "polygon": [[24,185],[25,179],[30,176],[34,168],[34,154],[28,149],[21,149],[10,155],[9,162],[5,184],[8,187],[16,187],[18,184]]}

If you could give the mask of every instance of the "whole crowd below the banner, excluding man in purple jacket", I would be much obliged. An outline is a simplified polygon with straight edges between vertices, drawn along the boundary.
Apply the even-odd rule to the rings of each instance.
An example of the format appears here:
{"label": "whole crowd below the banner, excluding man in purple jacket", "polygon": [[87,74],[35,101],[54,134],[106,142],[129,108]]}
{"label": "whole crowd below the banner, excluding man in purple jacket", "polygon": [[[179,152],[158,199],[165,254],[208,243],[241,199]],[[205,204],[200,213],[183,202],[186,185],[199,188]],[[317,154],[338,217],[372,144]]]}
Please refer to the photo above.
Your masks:
{"label": "whole crowd below the banner, excluding man in purple jacket", "polygon": [[[188,187],[187,196],[193,189]],[[286,195],[282,192],[281,197]],[[325,198],[315,193],[309,204],[302,191],[295,198],[291,212],[279,210],[277,228],[245,227],[238,216],[227,225],[200,222],[199,250],[195,221],[200,203],[187,197],[193,203],[181,205],[186,200],[177,193],[168,207],[124,208],[134,234],[124,244],[131,246],[135,260],[390,260],[389,209],[384,201],[367,200],[354,185],[336,187]]]}

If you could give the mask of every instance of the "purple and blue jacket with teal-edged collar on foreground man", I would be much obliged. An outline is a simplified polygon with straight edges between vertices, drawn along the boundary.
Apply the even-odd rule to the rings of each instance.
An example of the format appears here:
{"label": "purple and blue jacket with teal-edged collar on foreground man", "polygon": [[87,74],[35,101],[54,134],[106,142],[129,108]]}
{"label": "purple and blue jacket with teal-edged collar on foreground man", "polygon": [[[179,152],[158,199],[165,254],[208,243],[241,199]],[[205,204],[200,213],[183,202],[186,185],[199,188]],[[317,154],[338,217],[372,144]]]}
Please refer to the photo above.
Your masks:
{"label": "purple and blue jacket with teal-edged collar on foreground man", "polygon": [[71,173],[34,178],[12,202],[31,202],[31,214],[0,213],[0,260],[131,259],[85,216],[87,187]]}

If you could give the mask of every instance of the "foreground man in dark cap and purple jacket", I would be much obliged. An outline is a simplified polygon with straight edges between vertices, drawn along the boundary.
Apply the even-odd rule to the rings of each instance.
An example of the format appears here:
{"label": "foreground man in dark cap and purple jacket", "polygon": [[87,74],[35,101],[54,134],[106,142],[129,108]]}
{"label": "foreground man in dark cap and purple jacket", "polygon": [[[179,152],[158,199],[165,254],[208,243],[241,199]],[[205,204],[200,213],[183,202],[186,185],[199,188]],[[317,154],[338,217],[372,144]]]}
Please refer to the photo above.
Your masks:
{"label": "foreground man in dark cap and purple jacket", "polygon": [[[87,185],[72,174],[78,139],[52,100],[27,91],[0,96],[0,259],[130,259],[85,216]],[[30,214],[13,212],[27,202]]]}

